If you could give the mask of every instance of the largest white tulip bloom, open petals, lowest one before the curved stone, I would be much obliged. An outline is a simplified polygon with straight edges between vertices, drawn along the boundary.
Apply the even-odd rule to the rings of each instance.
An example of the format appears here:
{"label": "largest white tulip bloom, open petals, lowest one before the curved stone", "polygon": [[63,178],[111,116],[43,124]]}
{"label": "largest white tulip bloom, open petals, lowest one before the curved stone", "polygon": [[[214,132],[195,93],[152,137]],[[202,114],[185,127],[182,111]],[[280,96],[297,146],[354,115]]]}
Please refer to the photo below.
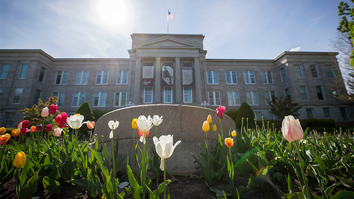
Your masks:
{"label": "largest white tulip bloom, open petals, lowest one before the curved stone", "polygon": [[181,143],[181,140],[177,141],[173,145],[173,135],[161,135],[160,138],[153,137],[156,153],[161,158],[160,169],[164,170],[164,160],[171,157],[174,151],[174,148]]}

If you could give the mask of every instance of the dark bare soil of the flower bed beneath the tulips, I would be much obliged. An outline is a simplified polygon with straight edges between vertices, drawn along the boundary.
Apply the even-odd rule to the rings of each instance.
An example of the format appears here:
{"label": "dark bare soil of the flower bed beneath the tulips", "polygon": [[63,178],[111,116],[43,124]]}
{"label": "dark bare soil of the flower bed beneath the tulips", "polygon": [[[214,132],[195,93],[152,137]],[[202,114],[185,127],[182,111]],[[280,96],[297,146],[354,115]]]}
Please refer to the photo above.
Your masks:
{"label": "dark bare soil of the flower bed beneath the tulips", "polygon": [[[286,174],[284,169],[277,168],[275,172],[280,172]],[[172,182],[168,185],[170,192],[170,198],[214,198],[216,199],[216,193],[210,191],[210,189],[205,185],[204,179],[199,176],[201,173],[196,173],[194,175],[173,175],[169,176]],[[247,174],[249,175],[249,174]],[[322,196],[321,190],[318,188],[317,179],[307,176],[309,184],[311,186],[311,192]],[[235,176],[235,187],[239,185],[247,186],[249,176]],[[334,180],[334,179],[333,179]],[[258,179],[258,182],[262,182],[258,187],[253,187],[250,192],[241,198],[243,199],[271,199],[271,198],[281,198],[275,185],[284,192],[288,193],[288,184],[283,177],[280,181],[278,180],[267,180]],[[161,183],[161,182],[159,182]],[[300,190],[300,185],[296,177],[292,177],[292,183],[295,185],[295,191]],[[334,181],[330,180],[329,185],[333,184]],[[60,185],[60,194],[54,194],[46,190],[41,184],[37,185],[38,191],[33,196],[39,196],[39,198],[91,198],[86,191],[83,191],[78,186],[74,186],[71,183],[62,182]],[[213,180],[212,187],[219,190],[224,190],[225,192],[230,192],[229,181],[217,181]],[[156,181],[152,181],[152,190],[156,189]],[[353,191],[348,185],[337,186],[332,195],[340,190],[350,190]],[[119,189],[118,192],[125,191],[125,189]],[[331,195],[331,196],[332,196]],[[163,195],[161,195],[163,197]],[[14,178],[6,182],[0,191],[0,198],[17,198],[16,196],[16,185]],[[131,194],[126,194],[124,198],[132,198]],[[231,198],[231,197],[229,197]]]}

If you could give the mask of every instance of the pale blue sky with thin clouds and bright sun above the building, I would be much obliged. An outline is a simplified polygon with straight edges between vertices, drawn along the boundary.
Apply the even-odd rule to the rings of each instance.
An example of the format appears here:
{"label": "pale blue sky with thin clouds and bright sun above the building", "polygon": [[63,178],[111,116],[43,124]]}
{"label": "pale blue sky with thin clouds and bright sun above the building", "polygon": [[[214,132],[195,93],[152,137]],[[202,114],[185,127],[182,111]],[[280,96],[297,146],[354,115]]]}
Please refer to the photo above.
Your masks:
{"label": "pale blue sky with thin clouds and bright sun above the building", "polygon": [[129,58],[132,33],[203,34],[206,58],[333,52],[340,1],[2,0],[0,48],[54,58]]}

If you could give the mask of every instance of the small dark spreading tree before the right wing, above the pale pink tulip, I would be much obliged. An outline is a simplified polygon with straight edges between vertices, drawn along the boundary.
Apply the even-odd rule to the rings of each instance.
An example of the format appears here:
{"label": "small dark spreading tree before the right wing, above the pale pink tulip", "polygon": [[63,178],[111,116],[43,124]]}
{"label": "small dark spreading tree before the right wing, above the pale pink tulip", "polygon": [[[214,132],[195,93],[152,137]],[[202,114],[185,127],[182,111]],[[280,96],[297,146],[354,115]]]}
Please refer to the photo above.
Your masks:
{"label": "small dark spreading tree before the right wing, above the pale pink tulip", "polygon": [[301,109],[297,103],[292,103],[291,96],[285,97],[283,100],[283,96],[280,98],[275,97],[275,101],[269,102],[271,106],[271,111],[274,115],[283,119],[284,116],[292,115],[292,116],[299,116],[297,111]]}

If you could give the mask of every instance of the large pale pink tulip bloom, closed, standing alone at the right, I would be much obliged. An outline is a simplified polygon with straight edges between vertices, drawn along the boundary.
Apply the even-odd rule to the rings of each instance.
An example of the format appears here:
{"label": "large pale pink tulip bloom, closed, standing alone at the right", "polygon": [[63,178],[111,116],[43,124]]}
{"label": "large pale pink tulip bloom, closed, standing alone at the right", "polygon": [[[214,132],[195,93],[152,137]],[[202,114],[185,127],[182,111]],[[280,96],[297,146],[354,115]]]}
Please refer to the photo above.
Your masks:
{"label": "large pale pink tulip bloom, closed, standing alone at the right", "polygon": [[303,130],[299,119],[295,120],[294,116],[285,116],[283,120],[283,136],[288,141],[301,140],[303,138]]}

